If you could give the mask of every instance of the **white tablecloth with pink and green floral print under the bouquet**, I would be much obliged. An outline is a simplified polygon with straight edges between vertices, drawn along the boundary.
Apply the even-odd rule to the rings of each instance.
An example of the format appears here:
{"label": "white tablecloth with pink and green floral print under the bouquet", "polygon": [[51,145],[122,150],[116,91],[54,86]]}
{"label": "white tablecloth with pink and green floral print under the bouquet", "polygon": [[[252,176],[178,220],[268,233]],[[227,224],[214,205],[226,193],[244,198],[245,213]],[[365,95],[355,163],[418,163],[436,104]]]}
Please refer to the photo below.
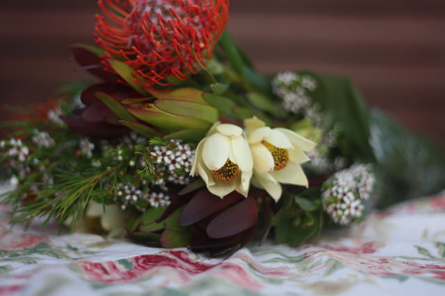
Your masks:
{"label": "white tablecloth with pink and green floral print under the bouquet", "polygon": [[445,295],[445,192],[375,212],[300,247],[229,258],[7,224],[0,295]]}

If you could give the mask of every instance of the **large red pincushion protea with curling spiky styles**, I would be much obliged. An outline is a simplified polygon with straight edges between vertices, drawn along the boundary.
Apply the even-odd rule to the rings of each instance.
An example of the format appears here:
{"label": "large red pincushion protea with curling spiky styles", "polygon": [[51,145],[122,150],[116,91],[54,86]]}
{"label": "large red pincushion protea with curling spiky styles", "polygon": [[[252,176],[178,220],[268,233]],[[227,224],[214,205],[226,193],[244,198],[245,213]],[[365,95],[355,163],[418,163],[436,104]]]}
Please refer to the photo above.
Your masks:
{"label": "large red pincushion protea with curling spiky styles", "polygon": [[[229,0],[103,0],[96,42],[106,58],[124,62],[145,81],[145,89],[185,80],[200,60],[211,58],[214,42],[227,26]],[[108,19],[107,19],[108,18]],[[196,58],[192,52],[195,51]],[[135,78],[136,79],[136,78]]]}

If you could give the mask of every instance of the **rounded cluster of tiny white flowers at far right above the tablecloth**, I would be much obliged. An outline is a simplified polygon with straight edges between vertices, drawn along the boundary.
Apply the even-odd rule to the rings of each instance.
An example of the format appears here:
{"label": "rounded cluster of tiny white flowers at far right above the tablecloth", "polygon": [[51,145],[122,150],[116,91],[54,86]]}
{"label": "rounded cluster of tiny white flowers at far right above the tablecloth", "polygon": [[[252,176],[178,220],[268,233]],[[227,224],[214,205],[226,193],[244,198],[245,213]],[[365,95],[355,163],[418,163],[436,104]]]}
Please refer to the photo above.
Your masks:
{"label": "rounded cluster of tiny white flowers at far right above the tablecloth", "polygon": [[323,208],[334,223],[353,223],[363,217],[364,201],[369,200],[374,184],[370,165],[354,164],[339,171],[323,184]]}

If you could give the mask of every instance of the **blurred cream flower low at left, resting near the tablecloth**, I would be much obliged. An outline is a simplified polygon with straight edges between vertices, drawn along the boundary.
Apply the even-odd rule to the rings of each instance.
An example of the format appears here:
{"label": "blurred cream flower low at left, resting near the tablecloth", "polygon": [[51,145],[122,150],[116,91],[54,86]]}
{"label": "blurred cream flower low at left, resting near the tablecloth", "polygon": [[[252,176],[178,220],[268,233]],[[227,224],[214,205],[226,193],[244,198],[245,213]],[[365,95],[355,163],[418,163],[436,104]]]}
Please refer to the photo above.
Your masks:
{"label": "blurred cream flower low at left, resting near the tablecloth", "polygon": [[[70,225],[72,217],[65,220]],[[107,238],[124,238],[124,212],[115,204],[106,204],[105,211],[102,204],[90,201],[86,209],[85,218],[79,217],[74,225],[74,232],[84,232],[104,235]]]}

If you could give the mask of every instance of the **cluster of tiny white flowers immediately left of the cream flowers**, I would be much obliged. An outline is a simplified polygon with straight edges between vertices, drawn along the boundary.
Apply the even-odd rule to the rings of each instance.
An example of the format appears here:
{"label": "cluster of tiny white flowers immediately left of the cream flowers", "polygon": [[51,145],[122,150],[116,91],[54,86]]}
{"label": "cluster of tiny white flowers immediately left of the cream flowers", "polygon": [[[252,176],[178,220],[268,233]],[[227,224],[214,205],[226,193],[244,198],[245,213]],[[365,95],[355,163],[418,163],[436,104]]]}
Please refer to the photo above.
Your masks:
{"label": "cluster of tiny white flowers immediately left of the cream flowers", "polygon": [[170,142],[171,146],[155,145],[152,148],[151,155],[156,162],[156,171],[165,172],[168,182],[188,184],[195,150],[180,140],[170,140]]}

